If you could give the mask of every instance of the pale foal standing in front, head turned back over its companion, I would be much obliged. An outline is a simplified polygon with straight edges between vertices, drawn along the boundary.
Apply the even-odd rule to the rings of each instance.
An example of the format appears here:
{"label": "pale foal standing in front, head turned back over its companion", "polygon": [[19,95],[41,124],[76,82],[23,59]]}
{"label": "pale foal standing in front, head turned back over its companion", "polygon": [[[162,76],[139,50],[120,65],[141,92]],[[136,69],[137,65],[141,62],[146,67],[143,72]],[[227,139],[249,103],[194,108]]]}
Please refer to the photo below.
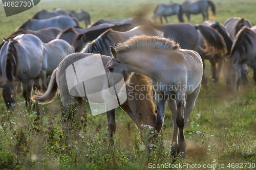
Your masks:
{"label": "pale foal standing in front, head turned back over its companion", "polygon": [[[167,38],[145,35],[116,44],[115,48],[111,47],[111,53],[110,72],[127,72],[127,76],[137,72],[151,79],[156,91],[157,132],[163,125],[167,101],[174,121],[172,155],[177,156],[177,149],[177,153],[183,153],[182,157],[186,157],[184,126],[201,87],[203,64],[200,55],[181,49]],[[129,79],[126,81],[129,82]]]}

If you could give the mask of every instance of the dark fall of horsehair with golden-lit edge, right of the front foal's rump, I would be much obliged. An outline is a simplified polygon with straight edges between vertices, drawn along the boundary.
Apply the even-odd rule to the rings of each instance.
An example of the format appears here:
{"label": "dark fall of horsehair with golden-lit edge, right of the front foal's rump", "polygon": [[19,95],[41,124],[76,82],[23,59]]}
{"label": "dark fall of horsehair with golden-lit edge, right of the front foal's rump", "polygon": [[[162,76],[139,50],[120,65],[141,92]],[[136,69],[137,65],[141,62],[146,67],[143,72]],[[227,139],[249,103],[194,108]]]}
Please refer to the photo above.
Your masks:
{"label": "dark fall of horsehair with golden-lit edge, right of the front foal's rump", "polygon": [[203,52],[207,53],[207,55],[211,54],[212,56],[214,56],[215,54],[223,56],[227,53],[226,43],[218,31],[202,25],[198,25],[195,27],[202,33],[204,37],[206,48],[201,48]]}

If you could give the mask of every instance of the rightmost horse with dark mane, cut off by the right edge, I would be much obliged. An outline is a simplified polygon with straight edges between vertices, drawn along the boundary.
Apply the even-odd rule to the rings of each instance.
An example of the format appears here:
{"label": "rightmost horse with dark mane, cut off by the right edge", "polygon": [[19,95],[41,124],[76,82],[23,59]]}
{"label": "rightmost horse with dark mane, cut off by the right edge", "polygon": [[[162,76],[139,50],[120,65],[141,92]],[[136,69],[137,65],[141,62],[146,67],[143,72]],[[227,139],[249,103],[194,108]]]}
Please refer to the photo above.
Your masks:
{"label": "rightmost horse with dark mane, cut off by the right edge", "polygon": [[246,78],[247,66],[253,69],[253,80],[256,82],[255,44],[255,26],[252,28],[244,26],[234,37],[231,55],[227,58],[223,71],[228,89],[236,85],[239,90],[241,82],[248,81]]}

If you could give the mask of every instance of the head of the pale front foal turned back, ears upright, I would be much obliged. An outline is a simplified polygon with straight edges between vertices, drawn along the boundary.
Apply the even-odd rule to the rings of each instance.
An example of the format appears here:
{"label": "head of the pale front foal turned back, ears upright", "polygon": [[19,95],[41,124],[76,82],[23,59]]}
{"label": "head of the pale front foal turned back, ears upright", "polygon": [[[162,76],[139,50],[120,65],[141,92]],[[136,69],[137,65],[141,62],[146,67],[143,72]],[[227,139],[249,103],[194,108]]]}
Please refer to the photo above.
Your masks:
{"label": "head of the pale front foal turned back, ears upright", "polygon": [[122,53],[117,53],[115,48],[110,47],[113,58],[110,61],[110,72],[119,72],[123,75],[124,81],[127,82],[130,79],[131,72],[128,71],[127,65],[119,57]]}

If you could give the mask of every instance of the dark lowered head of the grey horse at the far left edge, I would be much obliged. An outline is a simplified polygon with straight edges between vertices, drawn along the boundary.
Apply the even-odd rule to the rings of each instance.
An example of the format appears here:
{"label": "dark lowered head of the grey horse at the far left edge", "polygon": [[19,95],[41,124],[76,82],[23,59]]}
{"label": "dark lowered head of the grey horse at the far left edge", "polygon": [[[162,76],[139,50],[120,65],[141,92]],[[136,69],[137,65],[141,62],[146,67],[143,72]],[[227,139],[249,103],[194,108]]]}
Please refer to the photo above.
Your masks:
{"label": "dark lowered head of the grey horse at the far left edge", "polygon": [[15,85],[13,82],[7,81],[3,87],[3,97],[5,100],[5,104],[7,109],[9,109],[14,103],[15,103],[15,98],[16,98],[16,89]]}

